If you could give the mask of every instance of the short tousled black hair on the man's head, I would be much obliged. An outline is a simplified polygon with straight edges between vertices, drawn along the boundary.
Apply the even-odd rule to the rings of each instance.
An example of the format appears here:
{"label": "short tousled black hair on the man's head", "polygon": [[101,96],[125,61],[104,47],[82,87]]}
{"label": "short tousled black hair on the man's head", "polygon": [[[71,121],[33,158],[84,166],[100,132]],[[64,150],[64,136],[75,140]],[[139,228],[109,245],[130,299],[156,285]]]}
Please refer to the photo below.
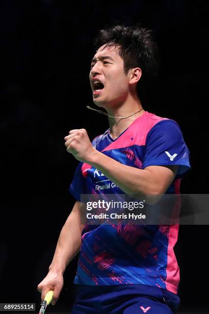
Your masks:
{"label": "short tousled black hair on the man's head", "polygon": [[101,29],[94,39],[96,49],[106,46],[118,47],[118,54],[124,62],[124,72],[139,67],[142,71],[141,78],[137,83],[137,95],[147,90],[157,76],[159,68],[159,49],[153,40],[153,31],[135,26],[115,25]]}

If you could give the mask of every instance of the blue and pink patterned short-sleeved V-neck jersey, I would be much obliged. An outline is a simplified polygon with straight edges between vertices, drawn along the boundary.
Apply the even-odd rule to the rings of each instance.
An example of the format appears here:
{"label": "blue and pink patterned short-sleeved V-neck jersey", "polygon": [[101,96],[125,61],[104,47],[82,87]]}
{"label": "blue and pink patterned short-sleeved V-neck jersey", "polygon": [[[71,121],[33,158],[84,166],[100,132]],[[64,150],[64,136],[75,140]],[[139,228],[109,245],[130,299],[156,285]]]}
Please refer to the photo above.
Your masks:
{"label": "blue and pink patterned short-sleeved V-neck jersey", "polygon": [[[147,111],[116,140],[108,129],[92,145],[138,169],[178,165],[166,193],[179,193],[180,180],[190,169],[189,150],[178,124]],[[123,193],[101,171],[86,163],[79,163],[69,190],[78,201],[81,194]],[[179,267],[173,249],[177,238],[178,225],[85,225],[74,283],[145,284],[177,293]]]}

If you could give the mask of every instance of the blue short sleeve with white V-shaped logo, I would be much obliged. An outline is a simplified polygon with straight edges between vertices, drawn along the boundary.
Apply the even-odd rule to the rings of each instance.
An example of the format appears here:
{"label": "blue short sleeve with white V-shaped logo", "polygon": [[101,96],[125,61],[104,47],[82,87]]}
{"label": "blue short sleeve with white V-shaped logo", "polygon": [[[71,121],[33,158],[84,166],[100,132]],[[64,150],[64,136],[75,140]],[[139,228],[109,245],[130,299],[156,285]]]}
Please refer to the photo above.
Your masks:
{"label": "blue short sleeve with white V-shaped logo", "polygon": [[148,166],[178,165],[176,178],[190,170],[190,152],[174,120],[158,122],[147,134],[143,169]]}

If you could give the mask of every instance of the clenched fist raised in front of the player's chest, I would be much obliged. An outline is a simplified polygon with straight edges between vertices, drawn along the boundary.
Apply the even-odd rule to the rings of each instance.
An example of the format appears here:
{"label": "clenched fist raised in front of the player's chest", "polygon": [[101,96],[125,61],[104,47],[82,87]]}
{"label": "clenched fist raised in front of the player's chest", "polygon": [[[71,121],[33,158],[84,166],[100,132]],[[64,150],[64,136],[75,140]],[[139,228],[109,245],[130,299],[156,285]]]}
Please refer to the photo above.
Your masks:
{"label": "clenched fist raised in front of the player's chest", "polygon": [[97,150],[92,146],[85,129],[75,129],[65,137],[67,151],[80,162],[88,163]]}

